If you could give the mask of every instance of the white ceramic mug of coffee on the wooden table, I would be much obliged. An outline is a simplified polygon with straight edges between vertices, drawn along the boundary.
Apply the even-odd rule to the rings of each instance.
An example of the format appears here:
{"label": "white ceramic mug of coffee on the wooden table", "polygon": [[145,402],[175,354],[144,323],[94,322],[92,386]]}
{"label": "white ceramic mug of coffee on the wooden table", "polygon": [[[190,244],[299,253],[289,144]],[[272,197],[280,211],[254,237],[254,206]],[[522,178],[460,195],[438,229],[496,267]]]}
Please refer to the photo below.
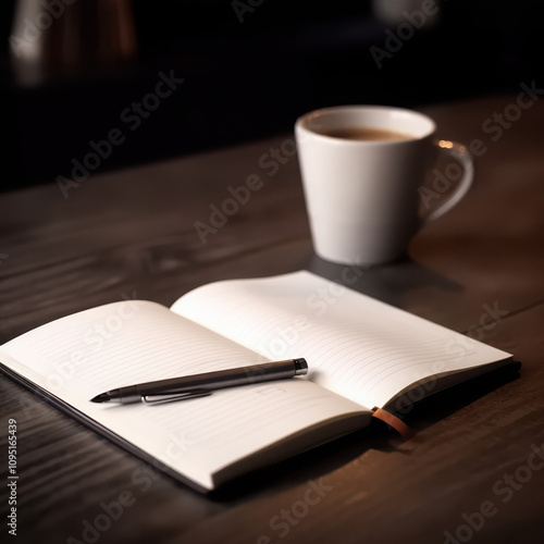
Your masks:
{"label": "white ceramic mug of coffee on the wooden table", "polygon": [[[336,131],[392,131],[407,139],[350,139]],[[316,252],[333,262],[379,264],[406,254],[425,222],[452,209],[469,190],[472,159],[460,144],[434,140],[434,121],[416,111],[382,106],[316,110],[295,124],[298,159]],[[437,150],[461,165],[457,187],[426,217],[419,193]]]}

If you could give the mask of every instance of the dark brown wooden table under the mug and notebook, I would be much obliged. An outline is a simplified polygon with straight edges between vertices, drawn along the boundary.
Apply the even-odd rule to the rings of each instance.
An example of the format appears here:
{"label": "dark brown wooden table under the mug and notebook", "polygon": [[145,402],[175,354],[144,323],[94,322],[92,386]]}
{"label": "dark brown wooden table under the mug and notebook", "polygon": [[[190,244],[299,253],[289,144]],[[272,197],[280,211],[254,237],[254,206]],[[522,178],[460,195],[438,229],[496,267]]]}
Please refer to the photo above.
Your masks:
{"label": "dark brown wooden table under the mug and notebook", "polygon": [[[520,378],[422,401],[409,442],[376,425],[205,496],[0,376],[2,541],[14,418],[20,542],[543,542],[544,100],[533,95],[423,109],[441,137],[479,154],[474,187],[409,258],[355,286],[515,354]],[[67,198],[55,183],[2,195],[0,341],[126,296],[170,305],[214,280],[301,268],[338,277],[312,254],[292,138],[97,173]],[[202,240],[195,223],[249,176],[262,187]]]}

